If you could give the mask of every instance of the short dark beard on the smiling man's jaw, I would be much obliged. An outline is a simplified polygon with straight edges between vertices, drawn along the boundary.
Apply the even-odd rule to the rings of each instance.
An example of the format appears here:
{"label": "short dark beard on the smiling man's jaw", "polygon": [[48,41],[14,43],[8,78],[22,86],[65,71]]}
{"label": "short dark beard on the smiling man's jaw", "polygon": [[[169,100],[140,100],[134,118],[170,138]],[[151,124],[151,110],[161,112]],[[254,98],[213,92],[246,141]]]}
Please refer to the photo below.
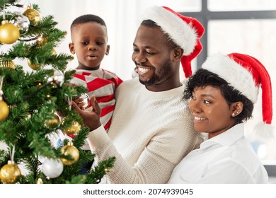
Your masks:
{"label": "short dark beard on the smiling man's jaw", "polygon": [[149,81],[142,81],[139,78],[140,83],[142,83],[144,86],[152,86],[156,83],[159,83],[162,79],[166,78],[166,76],[171,76],[171,64],[170,59],[167,59],[166,62],[162,66],[160,66],[162,69],[159,70],[159,74],[154,74]]}

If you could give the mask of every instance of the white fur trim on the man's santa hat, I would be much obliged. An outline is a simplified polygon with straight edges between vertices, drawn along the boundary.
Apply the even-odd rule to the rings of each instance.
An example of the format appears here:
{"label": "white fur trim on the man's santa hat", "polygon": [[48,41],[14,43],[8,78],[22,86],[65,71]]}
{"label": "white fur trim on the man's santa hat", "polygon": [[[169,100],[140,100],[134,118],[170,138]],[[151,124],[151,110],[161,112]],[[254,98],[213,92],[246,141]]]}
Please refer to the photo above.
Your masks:
{"label": "white fur trim on the man's santa hat", "polygon": [[149,8],[142,17],[142,20],[150,19],[159,25],[164,33],[167,33],[173,42],[183,48],[184,54],[189,55],[195,48],[197,32],[191,24],[183,21],[171,11],[160,6]]}

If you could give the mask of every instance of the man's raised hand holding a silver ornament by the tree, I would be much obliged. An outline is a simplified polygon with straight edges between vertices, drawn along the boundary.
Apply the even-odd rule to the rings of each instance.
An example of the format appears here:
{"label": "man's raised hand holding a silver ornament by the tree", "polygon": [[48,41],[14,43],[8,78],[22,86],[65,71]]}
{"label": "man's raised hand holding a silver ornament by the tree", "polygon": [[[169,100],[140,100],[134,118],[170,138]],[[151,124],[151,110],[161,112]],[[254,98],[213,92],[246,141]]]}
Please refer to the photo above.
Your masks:
{"label": "man's raised hand holding a silver ornament by the tree", "polygon": [[81,118],[84,120],[84,125],[91,129],[91,131],[97,129],[100,127],[100,106],[98,105],[98,102],[96,100],[95,95],[93,95],[90,99],[90,103],[93,107],[91,111],[85,111],[81,110],[81,108],[76,104],[76,100],[72,101],[72,107],[76,112],[79,113]]}

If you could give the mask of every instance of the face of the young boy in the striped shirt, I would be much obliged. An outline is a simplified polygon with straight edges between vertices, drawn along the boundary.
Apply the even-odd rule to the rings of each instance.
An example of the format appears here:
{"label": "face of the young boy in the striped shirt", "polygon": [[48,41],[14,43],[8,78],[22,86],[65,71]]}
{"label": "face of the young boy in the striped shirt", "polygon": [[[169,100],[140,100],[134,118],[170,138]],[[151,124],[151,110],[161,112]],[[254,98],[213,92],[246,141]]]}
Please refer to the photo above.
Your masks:
{"label": "face of the young boy in the striped shirt", "polygon": [[105,26],[96,22],[81,23],[71,29],[69,50],[76,53],[77,69],[94,70],[100,67],[103,57],[109,53],[108,35]]}

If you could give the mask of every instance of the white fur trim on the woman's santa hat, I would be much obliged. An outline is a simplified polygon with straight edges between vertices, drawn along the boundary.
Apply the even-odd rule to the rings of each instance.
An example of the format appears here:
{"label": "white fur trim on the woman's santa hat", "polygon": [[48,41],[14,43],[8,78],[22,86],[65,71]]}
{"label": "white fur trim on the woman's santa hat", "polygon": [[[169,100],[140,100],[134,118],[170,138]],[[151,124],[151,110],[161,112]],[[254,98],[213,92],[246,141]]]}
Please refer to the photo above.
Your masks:
{"label": "white fur trim on the woman's santa hat", "polygon": [[214,54],[202,64],[219,77],[224,78],[230,86],[236,88],[253,103],[257,102],[259,87],[255,86],[253,75],[243,66],[224,54]]}

